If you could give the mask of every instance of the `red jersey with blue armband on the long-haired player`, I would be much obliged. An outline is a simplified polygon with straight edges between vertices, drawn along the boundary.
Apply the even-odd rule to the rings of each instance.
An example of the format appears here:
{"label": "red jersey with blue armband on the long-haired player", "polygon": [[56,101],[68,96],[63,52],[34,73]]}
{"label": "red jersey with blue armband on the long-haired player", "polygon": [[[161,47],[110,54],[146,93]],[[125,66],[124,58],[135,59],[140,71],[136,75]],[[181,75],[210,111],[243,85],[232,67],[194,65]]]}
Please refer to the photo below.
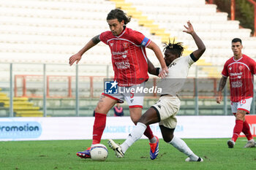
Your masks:
{"label": "red jersey with blue armband on the long-haired player", "polygon": [[118,36],[105,31],[100,34],[99,39],[110,47],[114,80],[119,86],[138,85],[148,80],[145,48],[151,43],[150,39],[131,28],[124,28]]}

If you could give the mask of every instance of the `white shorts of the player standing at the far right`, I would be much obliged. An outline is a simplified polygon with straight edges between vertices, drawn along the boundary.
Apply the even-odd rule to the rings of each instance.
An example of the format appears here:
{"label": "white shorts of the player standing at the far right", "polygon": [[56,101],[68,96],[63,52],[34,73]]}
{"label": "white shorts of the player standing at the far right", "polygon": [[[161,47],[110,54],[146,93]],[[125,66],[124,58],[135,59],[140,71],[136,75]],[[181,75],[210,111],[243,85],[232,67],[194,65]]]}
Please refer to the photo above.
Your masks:
{"label": "white shorts of the player standing at the far right", "polygon": [[244,110],[249,114],[249,111],[251,109],[252,104],[252,98],[245,98],[238,102],[231,101],[231,110],[234,115],[236,115],[236,112],[238,109]]}

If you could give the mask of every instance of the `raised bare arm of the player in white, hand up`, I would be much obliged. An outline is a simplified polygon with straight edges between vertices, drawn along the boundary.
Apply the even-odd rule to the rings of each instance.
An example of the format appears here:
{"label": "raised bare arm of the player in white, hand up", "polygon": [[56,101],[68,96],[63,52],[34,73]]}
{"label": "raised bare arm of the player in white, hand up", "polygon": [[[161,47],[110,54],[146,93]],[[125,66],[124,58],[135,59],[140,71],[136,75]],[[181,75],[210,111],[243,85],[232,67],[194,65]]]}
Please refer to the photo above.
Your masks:
{"label": "raised bare arm of the player in white, hand up", "polygon": [[187,28],[187,30],[184,30],[184,32],[186,32],[187,34],[191,34],[193,39],[195,40],[195,44],[197,45],[198,49],[193,52],[193,55],[198,60],[205,52],[206,46],[203,44],[202,39],[200,39],[200,37],[197,36],[197,34],[195,33],[195,30],[190,21],[188,21],[187,26],[184,27]]}

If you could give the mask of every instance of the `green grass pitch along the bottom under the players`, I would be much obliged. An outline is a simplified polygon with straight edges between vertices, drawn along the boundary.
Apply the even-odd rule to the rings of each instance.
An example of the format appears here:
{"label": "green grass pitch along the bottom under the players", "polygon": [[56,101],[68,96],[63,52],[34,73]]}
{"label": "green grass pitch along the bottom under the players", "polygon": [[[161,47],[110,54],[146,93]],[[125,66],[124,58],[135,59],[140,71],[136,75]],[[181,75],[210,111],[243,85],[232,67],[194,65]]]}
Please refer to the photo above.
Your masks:
{"label": "green grass pitch along the bottom under the players", "polygon": [[[124,139],[115,140],[124,142]],[[203,163],[185,162],[186,155],[172,145],[159,142],[156,160],[149,158],[147,139],[140,139],[127,150],[124,158],[116,158],[107,140],[106,161],[78,158],[76,152],[86,149],[91,140],[0,142],[0,169],[256,169],[256,147],[243,148],[246,138],[238,138],[233,149],[227,139],[184,139],[188,146],[204,159]]]}

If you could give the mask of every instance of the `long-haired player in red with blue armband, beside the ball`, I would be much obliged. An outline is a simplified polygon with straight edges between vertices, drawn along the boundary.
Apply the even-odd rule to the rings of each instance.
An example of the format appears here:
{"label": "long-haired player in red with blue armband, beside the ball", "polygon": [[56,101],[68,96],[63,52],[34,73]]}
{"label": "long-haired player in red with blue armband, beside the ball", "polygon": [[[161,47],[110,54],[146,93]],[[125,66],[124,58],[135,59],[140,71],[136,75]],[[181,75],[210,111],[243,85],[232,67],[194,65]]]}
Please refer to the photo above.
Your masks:
{"label": "long-haired player in red with blue armband, beside the ball", "polygon": [[[130,91],[129,89],[131,88],[144,87],[145,82],[148,80],[146,47],[154,51],[161,64],[162,72],[159,73],[159,77],[165,77],[168,71],[161,50],[151,39],[148,39],[138,31],[127,28],[129,21],[130,18],[121,9],[111,10],[107,16],[110,31],[94,36],[78,53],[69,58],[69,65],[72,66],[73,63],[78,63],[87,50],[102,41],[110,47],[115,74],[114,80],[118,82],[118,86],[127,88],[124,91]],[[143,108],[142,94],[135,96],[134,93],[102,93],[95,109],[92,145],[100,143],[109,110],[116,103],[123,103],[124,99],[129,104],[129,114],[133,123],[136,124],[138,122]],[[159,139],[153,135],[149,126],[147,126],[144,134],[149,139],[150,155],[154,159],[158,154],[158,152],[155,152],[155,148],[158,148]],[[77,152],[77,155],[80,158],[91,158],[89,149],[90,147],[83,152]]]}

